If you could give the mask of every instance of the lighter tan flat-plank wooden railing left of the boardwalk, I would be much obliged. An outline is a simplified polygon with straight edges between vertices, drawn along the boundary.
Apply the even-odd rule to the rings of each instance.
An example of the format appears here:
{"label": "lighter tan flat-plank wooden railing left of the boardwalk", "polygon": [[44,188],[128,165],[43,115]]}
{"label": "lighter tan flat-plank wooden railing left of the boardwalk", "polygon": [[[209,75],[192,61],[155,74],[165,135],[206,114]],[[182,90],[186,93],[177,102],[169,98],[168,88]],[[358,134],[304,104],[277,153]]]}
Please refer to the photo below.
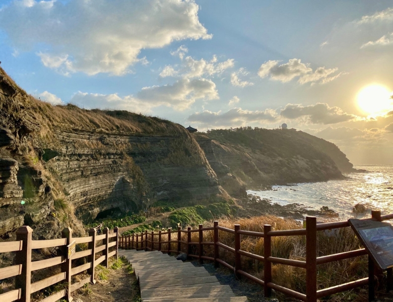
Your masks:
{"label": "lighter tan flat-plank wooden railing left of the boardwalk", "polygon": [[[108,259],[115,256],[117,258],[118,248],[118,228],[114,228],[113,233],[109,233],[108,228],[103,229],[102,235],[96,235],[96,229],[89,230],[89,236],[83,238],[73,238],[72,230],[65,228],[62,231],[62,238],[52,240],[32,240],[33,230],[30,226],[21,226],[17,231],[17,241],[0,243],[0,253],[15,252],[15,265],[0,268],[0,280],[15,277],[15,289],[0,294],[1,302],[30,302],[31,294],[42,290],[48,286],[62,282],[63,286],[59,286],[60,290],[46,298],[41,302],[54,302],[64,298],[68,301],[72,300],[71,293],[86,283],[95,283],[94,269],[98,264],[103,263],[108,267]],[[67,246],[75,241],[76,245],[88,244],[85,250],[74,253],[70,258],[67,254]],[[96,246],[97,242],[102,244]],[[54,258],[32,261],[32,250],[43,248],[58,247],[62,251],[62,255]],[[101,256],[100,256],[101,255]],[[87,257],[85,264],[76,266],[74,260]],[[96,259],[96,257],[99,257]],[[31,282],[32,272],[60,265],[60,273],[45,279]],[[87,272],[87,277],[81,281],[72,283],[72,277]]]}

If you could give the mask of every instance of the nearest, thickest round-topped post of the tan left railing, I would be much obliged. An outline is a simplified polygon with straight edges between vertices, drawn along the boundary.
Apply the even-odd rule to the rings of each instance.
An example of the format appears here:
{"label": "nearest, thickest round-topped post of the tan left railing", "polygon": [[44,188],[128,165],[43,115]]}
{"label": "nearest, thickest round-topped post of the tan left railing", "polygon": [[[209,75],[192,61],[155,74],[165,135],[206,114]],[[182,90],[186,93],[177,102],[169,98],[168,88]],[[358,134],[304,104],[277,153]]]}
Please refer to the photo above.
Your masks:
{"label": "nearest, thickest round-topped post of the tan left railing", "polygon": [[23,225],[17,231],[17,241],[22,241],[22,251],[16,252],[15,263],[22,264],[20,275],[15,278],[15,288],[21,288],[20,302],[30,302],[31,289],[31,241],[33,230]]}

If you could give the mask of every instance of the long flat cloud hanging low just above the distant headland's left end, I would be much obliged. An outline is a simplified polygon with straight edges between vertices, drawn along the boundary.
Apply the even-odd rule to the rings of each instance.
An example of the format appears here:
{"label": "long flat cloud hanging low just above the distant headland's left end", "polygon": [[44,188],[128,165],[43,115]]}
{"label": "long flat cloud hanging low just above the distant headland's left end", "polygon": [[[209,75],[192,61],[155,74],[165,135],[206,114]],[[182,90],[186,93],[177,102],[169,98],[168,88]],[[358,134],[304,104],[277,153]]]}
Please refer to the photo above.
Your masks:
{"label": "long flat cloud hanging low just above the distant headland's left end", "polygon": [[241,108],[233,108],[225,113],[209,110],[195,112],[188,117],[188,121],[208,127],[238,127],[248,125],[252,122],[272,122],[276,121],[277,118],[277,112],[272,109],[249,111]]}

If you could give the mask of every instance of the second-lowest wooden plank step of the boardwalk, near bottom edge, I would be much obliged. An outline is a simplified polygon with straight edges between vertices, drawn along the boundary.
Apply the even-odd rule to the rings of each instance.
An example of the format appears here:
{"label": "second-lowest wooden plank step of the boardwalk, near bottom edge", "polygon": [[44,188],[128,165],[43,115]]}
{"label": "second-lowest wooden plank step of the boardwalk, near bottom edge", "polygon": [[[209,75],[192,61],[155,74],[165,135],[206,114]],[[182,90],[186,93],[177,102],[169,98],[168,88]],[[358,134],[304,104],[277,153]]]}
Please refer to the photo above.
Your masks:
{"label": "second-lowest wooden plank step of the boardwalk, near bottom edge", "polygon": [[195,297],[195,295],[203,296],[210,294],[231,293],[233,291],[229,285],[213,285],[213,286],[169,286],[159,288],[141,289],[141,297],[143,299],[149,298],[164,298],[164,297]]}

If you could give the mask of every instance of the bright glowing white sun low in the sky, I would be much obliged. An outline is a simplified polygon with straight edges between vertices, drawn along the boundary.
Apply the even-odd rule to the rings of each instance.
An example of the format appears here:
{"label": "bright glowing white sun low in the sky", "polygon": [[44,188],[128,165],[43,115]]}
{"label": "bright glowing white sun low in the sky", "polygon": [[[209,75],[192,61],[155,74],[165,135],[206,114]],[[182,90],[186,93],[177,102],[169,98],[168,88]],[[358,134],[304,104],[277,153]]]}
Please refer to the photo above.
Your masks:
{"label": "bright glowing white sun low in the sky", "polygon": [[392,93],[382,85],[366,86],[358,92],[358,107],[369,115],[384,114],[392,109],[391,95]]}

